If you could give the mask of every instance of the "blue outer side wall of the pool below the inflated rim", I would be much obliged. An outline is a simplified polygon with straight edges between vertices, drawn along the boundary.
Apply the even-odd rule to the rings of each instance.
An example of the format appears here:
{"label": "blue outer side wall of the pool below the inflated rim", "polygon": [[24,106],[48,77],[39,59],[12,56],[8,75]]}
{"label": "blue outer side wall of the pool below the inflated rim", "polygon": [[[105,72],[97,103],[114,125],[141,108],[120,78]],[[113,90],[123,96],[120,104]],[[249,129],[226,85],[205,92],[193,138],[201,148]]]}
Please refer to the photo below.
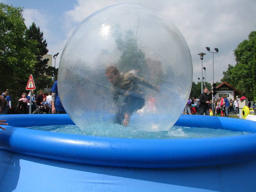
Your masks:
{"label": "blue outer side wall of the pool below the inflated rim", "polygon": [[253,192],[255,177],[255,160],[210,167],[145,169],[69,163],[0,149],[1,192]]}

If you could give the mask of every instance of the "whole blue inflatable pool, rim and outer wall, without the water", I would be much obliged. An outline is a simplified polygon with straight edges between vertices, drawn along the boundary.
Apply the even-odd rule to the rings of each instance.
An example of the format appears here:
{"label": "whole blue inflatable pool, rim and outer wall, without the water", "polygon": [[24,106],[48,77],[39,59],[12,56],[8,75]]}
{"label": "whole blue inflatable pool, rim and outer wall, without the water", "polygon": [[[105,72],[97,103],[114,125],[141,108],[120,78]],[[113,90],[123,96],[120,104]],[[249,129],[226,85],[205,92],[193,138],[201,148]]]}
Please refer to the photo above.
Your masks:
{"label": "whole blue inflatable pool, rim and outer wall, without the water", "polygon": [[255,191],[255,122],[183,115],[177,125],[252,134],[150,140],[23,128],[73,124],[67,115],[1,118],[7,119],[10,126],[4,126],[6,130],[0,134],[0,191]]}

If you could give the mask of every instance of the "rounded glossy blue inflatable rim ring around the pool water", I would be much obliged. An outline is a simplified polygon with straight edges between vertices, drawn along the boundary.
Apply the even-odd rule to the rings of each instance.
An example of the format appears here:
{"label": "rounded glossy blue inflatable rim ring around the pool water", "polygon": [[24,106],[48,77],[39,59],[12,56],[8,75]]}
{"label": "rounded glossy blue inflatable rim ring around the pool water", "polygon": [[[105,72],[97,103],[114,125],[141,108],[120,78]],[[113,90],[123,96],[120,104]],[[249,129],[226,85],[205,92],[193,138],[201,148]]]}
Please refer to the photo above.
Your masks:
{"label": "rounded glossy blue inflatable rim ring around the pool water", "polygon": [[198,139],[125,139],[24,128],[74,124],[68,115],[1,115],[5,150],[74,163],[140,168],[177,168],[256,159],[256,122],[217,116],[182,115],[175,125],[252,134]]}

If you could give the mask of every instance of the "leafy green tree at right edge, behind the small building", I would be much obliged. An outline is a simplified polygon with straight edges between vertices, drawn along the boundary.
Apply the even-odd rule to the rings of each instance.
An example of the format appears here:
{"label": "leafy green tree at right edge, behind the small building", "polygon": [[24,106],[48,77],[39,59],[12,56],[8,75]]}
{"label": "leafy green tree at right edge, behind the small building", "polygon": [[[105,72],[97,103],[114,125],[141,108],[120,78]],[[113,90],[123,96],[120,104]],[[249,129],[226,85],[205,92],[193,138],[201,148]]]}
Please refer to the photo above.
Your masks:
{"label": "leafy green tree at right edge, behind the small building", "polygon": [[256,31],[248,35],[248,39],[237,45],[234,50],[236,65],[228,65],[223,72],[222,82],[226,81],[244,93],[248,100],[256,99]]}

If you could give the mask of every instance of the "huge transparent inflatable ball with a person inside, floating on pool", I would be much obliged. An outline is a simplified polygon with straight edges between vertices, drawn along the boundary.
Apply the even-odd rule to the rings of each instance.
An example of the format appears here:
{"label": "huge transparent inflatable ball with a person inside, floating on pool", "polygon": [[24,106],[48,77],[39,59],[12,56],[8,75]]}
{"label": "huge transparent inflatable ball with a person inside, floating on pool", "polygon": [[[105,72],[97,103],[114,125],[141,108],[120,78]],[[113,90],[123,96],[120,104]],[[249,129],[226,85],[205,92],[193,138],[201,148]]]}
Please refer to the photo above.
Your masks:
{"label": "huge transparent inflatable ball with a person inside, floating on pool", "polygon": [[174,24],[142,6],[117,4],[74,30],[61,54],[58,90],[84,131],[163,131],[183,111],[192,76],[188,45]]}

